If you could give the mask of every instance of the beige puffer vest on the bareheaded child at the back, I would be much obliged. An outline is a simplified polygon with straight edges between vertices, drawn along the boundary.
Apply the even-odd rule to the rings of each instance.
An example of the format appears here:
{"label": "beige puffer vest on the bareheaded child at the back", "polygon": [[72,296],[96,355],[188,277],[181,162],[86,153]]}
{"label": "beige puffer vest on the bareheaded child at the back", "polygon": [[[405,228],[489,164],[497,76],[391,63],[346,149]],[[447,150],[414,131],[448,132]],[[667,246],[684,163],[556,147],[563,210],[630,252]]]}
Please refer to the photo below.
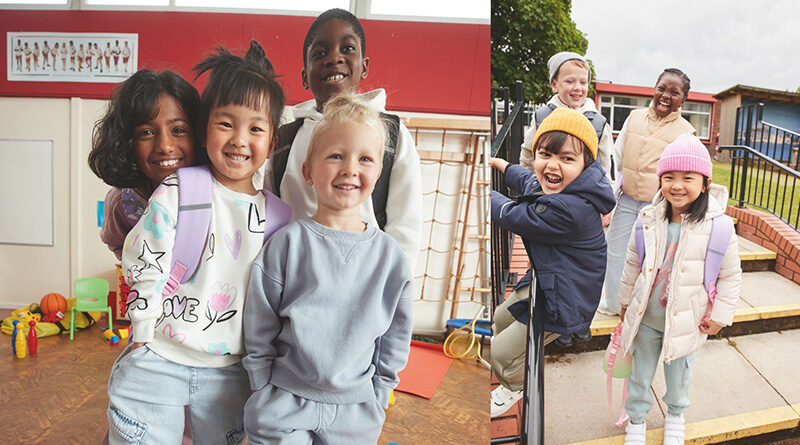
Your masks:
{"label": "beige puffer vest on the bareheaded child at the back", "polygon": [[622,191],[637,201],[651,201],[658,191],[656,166],[661,152],[678,136],[696,134],[681,117],[681,109],[659,118],[651,101],[648,108],[631,111],[622,147]]}

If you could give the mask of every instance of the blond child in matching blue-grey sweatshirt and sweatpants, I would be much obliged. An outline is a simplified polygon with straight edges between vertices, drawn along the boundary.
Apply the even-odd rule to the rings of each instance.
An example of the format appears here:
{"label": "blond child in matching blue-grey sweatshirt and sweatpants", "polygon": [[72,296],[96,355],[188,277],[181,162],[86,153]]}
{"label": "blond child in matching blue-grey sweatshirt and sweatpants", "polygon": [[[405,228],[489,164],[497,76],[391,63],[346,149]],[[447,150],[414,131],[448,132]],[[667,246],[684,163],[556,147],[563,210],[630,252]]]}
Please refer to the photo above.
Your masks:
{"label": "blond child in matching blue-grey sweatshirt and sweatpants", "polygon": [[411,271],[397,242],[359,218],[381,171],[383,121],[328,101],[303,178],[317,210],[276,232],[253,266],[243,363],[253,444],[376,443],[411,340]]}

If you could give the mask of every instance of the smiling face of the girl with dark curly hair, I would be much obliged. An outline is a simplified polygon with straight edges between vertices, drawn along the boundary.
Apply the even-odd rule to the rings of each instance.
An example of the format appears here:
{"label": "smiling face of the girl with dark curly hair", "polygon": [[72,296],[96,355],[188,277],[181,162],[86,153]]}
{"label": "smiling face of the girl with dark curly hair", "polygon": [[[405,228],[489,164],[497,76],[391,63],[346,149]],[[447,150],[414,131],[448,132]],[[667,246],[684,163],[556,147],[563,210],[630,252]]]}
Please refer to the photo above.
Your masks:
{"label": "smiling face of the girl with dark curly hair", "polygon": [[169,94],[158,96],[158,114],[133,129],[136,164],[153,185],[181,167],[194,165],[194,136],[189,117]]}

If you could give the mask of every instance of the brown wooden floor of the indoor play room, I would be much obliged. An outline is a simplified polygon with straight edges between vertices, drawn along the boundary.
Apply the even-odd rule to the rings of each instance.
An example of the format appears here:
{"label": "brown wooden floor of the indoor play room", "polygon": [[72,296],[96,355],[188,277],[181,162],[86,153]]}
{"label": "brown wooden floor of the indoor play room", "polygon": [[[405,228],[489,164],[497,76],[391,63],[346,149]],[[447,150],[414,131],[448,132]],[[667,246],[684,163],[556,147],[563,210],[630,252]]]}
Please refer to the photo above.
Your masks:
{"label": "brown wooden floor of the indoor play room", "polygon": [[[0,309],[0,319],[11,314]],[[11,354],[0,335],[0,443],[99,444],[107,429],[106,383],[122,346],[100,336],[103,318],[86,331],[39,339],[39,353]],[[116,325],[115,325],[116,326]],[[489,371],[456,361],[431,400],[397,393],[379,444],[489,443]]]}

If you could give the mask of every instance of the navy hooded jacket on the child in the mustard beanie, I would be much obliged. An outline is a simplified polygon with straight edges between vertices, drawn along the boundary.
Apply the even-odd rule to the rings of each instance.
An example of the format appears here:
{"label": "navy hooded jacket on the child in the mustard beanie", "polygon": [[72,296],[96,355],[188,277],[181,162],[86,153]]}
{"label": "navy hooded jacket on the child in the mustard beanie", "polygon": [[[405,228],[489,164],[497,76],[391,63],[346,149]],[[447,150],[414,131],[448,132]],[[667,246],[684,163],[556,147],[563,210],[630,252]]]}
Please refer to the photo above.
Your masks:
{"label": "navy hooded jacket on the child in the mustard beanie", "polygon": [[[592,322],[606,273],[606,238],[600,215],[616,204],[596,161],[560,193],[543,194],[536,175],[509,165],[506,184],[521,190],[516,201],[492,192],[492,221],[522,237],[545,297],[544,329],[560,334],[585,330]],[[530,273],[517,288],[530,284]],[[509,307],[527,323],[528,299]]]}

